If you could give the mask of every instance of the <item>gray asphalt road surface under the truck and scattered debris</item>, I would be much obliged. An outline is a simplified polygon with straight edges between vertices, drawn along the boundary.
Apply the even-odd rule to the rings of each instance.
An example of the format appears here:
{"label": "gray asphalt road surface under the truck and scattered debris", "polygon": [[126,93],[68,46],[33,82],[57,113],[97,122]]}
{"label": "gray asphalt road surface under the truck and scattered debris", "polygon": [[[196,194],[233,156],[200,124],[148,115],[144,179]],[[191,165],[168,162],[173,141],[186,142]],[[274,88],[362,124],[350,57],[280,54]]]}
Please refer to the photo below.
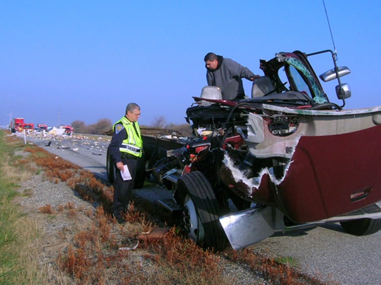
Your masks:
{"label": "gray asphalt road surface under the truck and scattered debris", "polygon": [[[51,141],[50,145],[47,144]],[[107,179],[106,150],[109,141],[86,136],[27,137],[44,149],[71,161],[96,175]],[[170,195],[159,188],[135,191],[137,195],[149,193],[152,201]],[[318,226],[268,237],[251,249],[273,256],[289,257],[304,272],[319,279],[339,284],[381,284],[381,231],[367,236],[345,233],[338,223]]]}

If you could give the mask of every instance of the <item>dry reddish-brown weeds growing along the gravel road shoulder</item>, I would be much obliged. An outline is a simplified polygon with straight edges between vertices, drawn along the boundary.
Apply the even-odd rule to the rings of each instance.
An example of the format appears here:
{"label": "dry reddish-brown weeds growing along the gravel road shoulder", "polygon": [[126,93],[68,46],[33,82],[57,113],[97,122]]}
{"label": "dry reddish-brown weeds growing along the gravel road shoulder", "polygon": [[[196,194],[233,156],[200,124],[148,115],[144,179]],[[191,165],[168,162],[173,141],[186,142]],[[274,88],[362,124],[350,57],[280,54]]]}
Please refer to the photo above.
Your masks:
{"label": "dry reddish-brown weeds growing along the gravel road shoulder", "polygon": [[[9,143],[13,142],[10,138]],[[226,259],[247,264],[253,274],[260,275],[271,284],[323,284],[317,278],[302,274],[274,258],[260,256],[250,249],[229,249],[223,253],[204,250],[178,235],[175,227],[170,228],[162,238],[147,237],[140,240],[135,251],[118,250],[138,242],[140,232],[157,227],[155,222],[147,218],[145,208],[132,205],[125,215],[126,224],[120,226],[110,214],[112,186],[35,145],[26,145],[25,150],[30,152],[32,159],[19,158],[14,165],[32,164],[32,160],[46,172],[51,181],[65,181],[83,199],[90,202],[97,199],[101,203],[95,213],[86,212],[93,219],[93,225],[74,232],[70,244],[59,253],[56,260],[58,266],[76,283],[228,284],[234,281],[234,277],[223,277],[220,261]],[[47,214],[67,212],[71,218],[81,210],[70,203],[59,205],[56,209],[48,204],[39,208],[40,212]],[[65,239],[67,234],[62,232],[61,237]]]}

